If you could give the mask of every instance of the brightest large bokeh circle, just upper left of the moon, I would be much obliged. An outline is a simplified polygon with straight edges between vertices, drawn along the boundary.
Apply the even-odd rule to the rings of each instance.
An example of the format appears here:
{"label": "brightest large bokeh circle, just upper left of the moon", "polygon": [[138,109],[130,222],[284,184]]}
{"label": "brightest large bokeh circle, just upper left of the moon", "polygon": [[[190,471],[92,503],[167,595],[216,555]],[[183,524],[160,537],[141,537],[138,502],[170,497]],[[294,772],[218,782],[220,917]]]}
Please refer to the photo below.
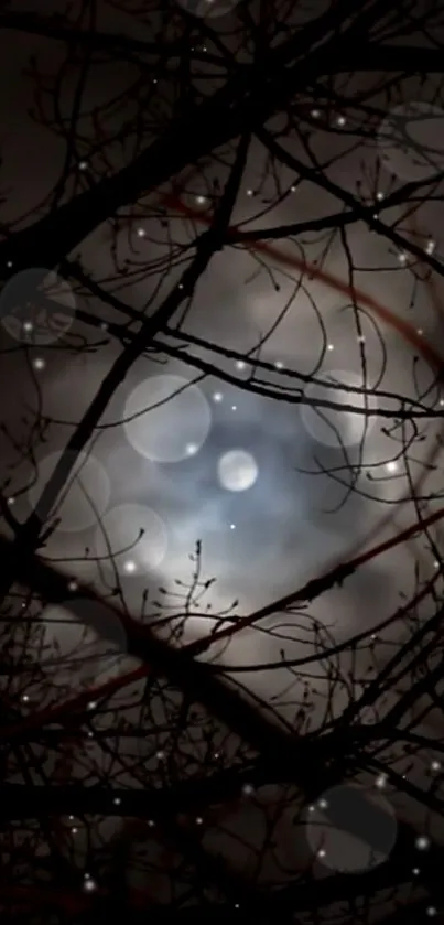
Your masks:
{"label": "brightest large bokeh circle, just upper left of the moon", "polygon": [[180,462],[205,443],[209,405],[181,376],[153,376],[138,385],[124,406],[124,430],[133,449],[159,463]]}

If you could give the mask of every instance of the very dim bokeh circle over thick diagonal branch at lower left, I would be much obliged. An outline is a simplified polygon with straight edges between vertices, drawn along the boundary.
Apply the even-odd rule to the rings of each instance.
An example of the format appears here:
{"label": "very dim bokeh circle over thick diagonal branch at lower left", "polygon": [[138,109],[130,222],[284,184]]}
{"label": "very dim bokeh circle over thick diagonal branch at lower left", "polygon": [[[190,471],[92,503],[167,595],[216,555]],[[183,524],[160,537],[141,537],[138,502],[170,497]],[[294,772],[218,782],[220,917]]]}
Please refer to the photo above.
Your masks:
{"label": "very dim bokeh circle over thick diagonal branch at lower left", "polygon": [[73,598],[42,613],[44,662],[56,684],[97,685],[119,674],[128,639],[118,615],[100,601]]}

